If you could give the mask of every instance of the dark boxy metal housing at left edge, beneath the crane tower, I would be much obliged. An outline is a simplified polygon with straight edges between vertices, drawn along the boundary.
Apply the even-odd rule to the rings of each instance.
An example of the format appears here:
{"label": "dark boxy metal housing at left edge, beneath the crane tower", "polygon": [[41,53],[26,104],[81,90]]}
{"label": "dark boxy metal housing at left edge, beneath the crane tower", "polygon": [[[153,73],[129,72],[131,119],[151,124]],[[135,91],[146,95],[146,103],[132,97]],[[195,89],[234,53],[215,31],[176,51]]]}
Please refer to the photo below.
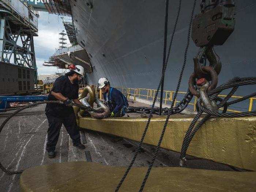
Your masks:
{"label": "dark boxy metal housing at left edge, beneath the crane tower", "polygon": [[18,95],[35,91],[33,68],[0,62],[0,95]]}

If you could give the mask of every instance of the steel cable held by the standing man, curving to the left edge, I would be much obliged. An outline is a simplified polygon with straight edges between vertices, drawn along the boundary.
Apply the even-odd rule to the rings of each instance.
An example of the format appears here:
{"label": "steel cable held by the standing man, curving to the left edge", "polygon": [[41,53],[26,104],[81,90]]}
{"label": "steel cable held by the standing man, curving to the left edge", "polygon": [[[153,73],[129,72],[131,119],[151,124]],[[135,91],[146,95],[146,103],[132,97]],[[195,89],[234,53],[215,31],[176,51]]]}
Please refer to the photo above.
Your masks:
{"label": "steel cable held by the standing man, curving to the left edge", "polygon": [[[44,104],[44,103],[61,103],[60,101],[42,101],[42,102],[37,102],[37,103],[33,103],[31,105],[28,105],[28,106],[24,106],[18,110],[16,110],[14,113],[12,113],[10,116],[8,116],[4,122],[1,124],[0,126],[0,133],[1,131],[3,130],[3,127],[4,125],[13,117],[15,116],[17,113],[21,112],[22,110],[24,109],[27,109],[27,108],[31,108],[32,106],[37,106],[37,105],[41,105],[41,104]],[[87,106],[84,106],[84,105],[80,105],[80,104],[77,104],[77,103],[72,103],[72,105],[75,105],[75,106],[78,106],[84,110],[87,110],[87,111],[94,111],[94,112],[98,112],[97,110],[91,108],[91,107],[87,107]],[[4,173],[8,173],[8,174],[20,174],[22,173],[24,170],[18,170],[18,171],[10,171],[10,170],[7,170],[3,165],[2,163],[0,162],[0,168],[1,170],[3,170]]]}

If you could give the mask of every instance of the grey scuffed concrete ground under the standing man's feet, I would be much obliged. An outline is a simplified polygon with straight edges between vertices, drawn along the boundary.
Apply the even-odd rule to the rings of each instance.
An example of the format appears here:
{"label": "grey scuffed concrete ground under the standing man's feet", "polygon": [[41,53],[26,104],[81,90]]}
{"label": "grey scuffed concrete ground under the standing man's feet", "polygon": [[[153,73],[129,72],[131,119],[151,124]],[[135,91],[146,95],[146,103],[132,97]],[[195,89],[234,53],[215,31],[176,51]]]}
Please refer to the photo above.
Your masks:
{"label": "grey scuffed concrete ground under the standing man's feet", "polygon": [[[40,105],[26,109],[11,118],[3,128],[0,134],[0,162],[9,170],[67,161],[92,161],[112,166],[128,166],[131,162],[137,142],[83,129],[80,131],[81,141],[86,149],[79,150],[72,146],[64,127],[56,146],[56,158],[49,159],[45,150],[48,121],[44,108],[45,105]],[[0,123],[11,113],[0,113]],[[148,166],[154,149],[154,146],[143,144],[134,166]],[[187,167],[233,171],[226,165],[188,158],[192,160],[187,161]],[[178,162],[179,153],[160,149],[154,166],[178,166]],[[9,175],[0,170],[0,191],[19,191],[19,177],[19,174]]]}

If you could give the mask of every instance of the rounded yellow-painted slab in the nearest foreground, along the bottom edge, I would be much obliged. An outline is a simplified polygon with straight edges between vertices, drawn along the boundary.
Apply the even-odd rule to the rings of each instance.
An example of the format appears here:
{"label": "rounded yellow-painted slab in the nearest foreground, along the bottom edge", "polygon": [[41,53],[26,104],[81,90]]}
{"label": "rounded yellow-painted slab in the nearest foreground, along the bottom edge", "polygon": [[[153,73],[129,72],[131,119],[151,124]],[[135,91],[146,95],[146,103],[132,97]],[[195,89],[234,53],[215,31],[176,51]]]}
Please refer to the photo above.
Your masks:
{"label": "rounded yellow-painted slab in the nearest foreground, along the bottom edge", "polygon": [[[31,167],[20,176],[21,191],[114,191],[126,167],[90,162]],[[132,167],[121,191],[139,191],[147,167]],[[144,191],[255,191],[255,172],[153,167]]]}

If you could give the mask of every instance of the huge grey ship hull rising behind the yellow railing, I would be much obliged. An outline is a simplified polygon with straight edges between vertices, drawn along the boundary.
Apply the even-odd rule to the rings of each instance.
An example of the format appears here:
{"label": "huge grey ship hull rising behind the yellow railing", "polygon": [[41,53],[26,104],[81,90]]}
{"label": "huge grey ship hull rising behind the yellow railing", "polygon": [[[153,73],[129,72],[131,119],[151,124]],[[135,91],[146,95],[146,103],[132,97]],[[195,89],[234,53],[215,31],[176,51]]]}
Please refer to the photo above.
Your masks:
{"label": "huge grey ship hull rising behind the yellow railing", "polygon": [[[87,50],[93,72],[87,74],[90,84],[101,77],[109,78],[112,86],[155,89],[162,71],[165,1],[97,0],[70,1],[79,45]],[[215,50],[222,61],[219,83],[235,76],[255,76],[254,0],[236,0],[236,26],[222,46]],[[173,46],[165,76],[165,90],[175,90],[184,59],[188,24],[193,1],[182,1]],[[199,13],[197,2],[195,14]],[[168,41],[172,33],[178,1],[170,1]],[[167,43],[169,44],[169,43]],[[198,51],[192,39],[187,55],[180,90],[187,91],[193,71],[193,57]],[[251,87],[241,87],[236,95],[251,93]]]}

